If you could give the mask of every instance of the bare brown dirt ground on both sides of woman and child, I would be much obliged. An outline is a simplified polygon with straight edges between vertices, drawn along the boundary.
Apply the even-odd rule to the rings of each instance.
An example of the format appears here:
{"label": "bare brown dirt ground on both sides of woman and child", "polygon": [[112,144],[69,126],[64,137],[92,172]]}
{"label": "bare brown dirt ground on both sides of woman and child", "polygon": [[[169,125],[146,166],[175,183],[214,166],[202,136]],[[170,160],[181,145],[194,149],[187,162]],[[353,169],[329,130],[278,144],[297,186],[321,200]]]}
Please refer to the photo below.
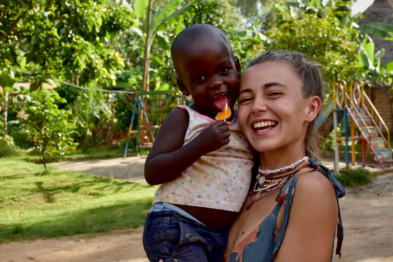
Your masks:
{"label": "bare brown dirt ground on both sides of woman and child", "polygon": [[[393,173],[347,190],[340,200],[343,256],[334,262],[393,262]],[[0,245],[0,262],[147,262],[142,229],[95,238],[62,237]]]}

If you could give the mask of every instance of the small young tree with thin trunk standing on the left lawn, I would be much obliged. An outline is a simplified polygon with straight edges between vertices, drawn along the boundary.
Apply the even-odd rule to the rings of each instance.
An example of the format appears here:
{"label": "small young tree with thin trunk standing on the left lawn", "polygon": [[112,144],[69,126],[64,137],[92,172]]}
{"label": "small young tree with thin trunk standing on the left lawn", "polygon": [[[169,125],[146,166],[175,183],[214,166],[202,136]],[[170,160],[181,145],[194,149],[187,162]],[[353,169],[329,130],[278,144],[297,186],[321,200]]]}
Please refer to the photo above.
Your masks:
{"label": "small young tree with thin trunk standing on the left lawn", "polygon": [[73,142],[75,125],[67,121],[71,112],[59,109],[56,103],[66,101],[53,90],[37,90],[25,107],[28,117],[23,124],[45,168],[47,154],[65,154],[77,146]]}

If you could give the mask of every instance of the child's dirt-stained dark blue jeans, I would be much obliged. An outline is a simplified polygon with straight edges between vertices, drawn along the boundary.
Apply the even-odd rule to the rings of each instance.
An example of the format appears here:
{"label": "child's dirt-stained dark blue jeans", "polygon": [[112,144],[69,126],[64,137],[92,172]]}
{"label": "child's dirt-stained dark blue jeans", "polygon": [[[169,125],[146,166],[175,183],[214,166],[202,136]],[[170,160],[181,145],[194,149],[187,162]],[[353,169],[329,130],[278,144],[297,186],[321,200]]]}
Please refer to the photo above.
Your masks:
{"label": "child's dirt-stained dark blue jeans", "polygon": [[143,230],[147,258],[151,262],[222,262],[228,228],[213,229],[172,207],[155,205],[147,214]]}

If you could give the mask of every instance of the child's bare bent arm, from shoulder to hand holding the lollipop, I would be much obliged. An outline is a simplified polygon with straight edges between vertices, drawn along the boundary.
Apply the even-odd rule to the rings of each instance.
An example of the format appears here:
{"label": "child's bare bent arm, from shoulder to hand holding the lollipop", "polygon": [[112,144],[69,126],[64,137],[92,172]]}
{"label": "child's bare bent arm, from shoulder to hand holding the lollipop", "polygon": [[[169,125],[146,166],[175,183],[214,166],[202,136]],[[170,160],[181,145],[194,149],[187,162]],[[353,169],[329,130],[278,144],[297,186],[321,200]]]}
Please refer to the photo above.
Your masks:
{"label": "child's bare bent arm, from shoulder to hand holding the lollipop", "polygon": [[160,128],[145,163],[145,179],[150,185],[173,181],[201,156],[229,143],[229,127],[218,121],[203,130],[195,139],[184,145],[189,125],[189,115],[176,108]]}

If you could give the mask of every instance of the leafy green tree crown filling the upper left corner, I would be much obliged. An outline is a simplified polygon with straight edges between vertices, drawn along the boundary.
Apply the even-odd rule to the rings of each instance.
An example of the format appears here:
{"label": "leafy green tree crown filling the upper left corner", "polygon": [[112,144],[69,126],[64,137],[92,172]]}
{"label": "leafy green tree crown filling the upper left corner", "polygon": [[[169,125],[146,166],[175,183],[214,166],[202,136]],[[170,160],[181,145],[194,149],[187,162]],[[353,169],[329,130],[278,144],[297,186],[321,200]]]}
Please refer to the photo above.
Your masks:
{"label": "leafy green tree crown filling the upper left corner", "polygon": [[0,69],[11,64],[35,70],[31,90],[42,81],[35,73],[106,86],[124,66],[107,43],[129,26],[130,11],[112,1],[20,0],[7,4],[3,13]]}

